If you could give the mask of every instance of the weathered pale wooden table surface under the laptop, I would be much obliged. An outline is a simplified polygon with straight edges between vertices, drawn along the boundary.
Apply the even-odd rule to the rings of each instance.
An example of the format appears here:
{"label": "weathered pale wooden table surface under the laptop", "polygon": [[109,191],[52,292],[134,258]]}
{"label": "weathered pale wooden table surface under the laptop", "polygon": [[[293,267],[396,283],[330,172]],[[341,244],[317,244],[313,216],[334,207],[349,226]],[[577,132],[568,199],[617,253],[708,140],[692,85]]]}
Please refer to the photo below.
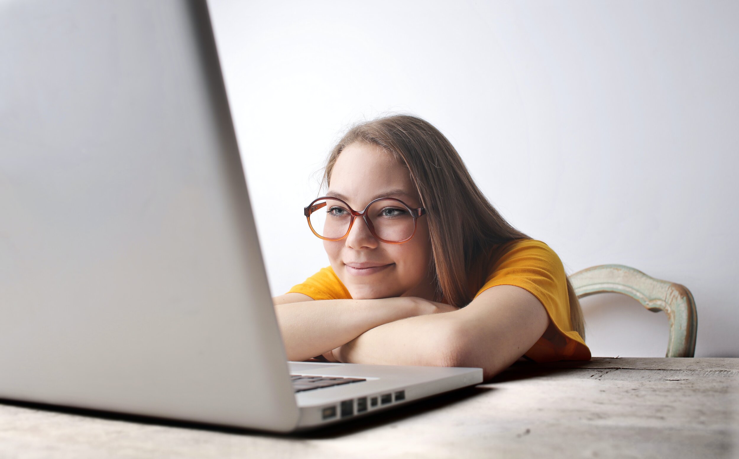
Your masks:
{"label": "weathered pale wooden table surface under the laptop", "polygon": [[517,365],[302,435],[0,404],[0,458],[739,458],[739,359]]}

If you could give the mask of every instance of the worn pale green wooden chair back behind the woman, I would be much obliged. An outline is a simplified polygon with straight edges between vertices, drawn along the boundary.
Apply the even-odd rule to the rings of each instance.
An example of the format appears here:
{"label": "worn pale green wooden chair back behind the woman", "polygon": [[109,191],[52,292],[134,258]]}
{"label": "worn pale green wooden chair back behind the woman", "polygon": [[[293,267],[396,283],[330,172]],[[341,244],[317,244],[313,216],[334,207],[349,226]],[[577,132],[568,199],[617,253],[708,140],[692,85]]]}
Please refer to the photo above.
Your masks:
{"label": "worn pale green wooden chair back behind the woman", "polygon": [[599,265],[569,276],[578,298],[613,292],[632,297],[652,312],[664,311],[670,320],[666,357],[692,357],[698,313],[686,286],[645,275],[624,265]]}

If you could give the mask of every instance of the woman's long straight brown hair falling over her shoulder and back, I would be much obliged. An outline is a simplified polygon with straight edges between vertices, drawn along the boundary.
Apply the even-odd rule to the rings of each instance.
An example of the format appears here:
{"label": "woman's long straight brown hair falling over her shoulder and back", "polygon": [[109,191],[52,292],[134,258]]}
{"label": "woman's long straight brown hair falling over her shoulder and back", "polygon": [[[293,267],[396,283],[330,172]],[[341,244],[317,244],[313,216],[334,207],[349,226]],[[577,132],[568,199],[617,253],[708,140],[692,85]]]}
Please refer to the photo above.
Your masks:
{"label": "woman's long straight brown hair falling over her shoulder and back", "polygon": [[[408,168],[429,218],[435,300],[443,298],[454,306],[466,306],[474,286],[482,286],[487,273],[480,267],[489,261],[494,247],[514,239],[531,239],[508,224],[490,204],[449,139],[426,120],[396,114],[354,125],[331,150],[324,184],[330,182],[338,155],[354,142],[378,145]],[[573,330],[585,339],[582,309],[569,279],[567,290]]]}

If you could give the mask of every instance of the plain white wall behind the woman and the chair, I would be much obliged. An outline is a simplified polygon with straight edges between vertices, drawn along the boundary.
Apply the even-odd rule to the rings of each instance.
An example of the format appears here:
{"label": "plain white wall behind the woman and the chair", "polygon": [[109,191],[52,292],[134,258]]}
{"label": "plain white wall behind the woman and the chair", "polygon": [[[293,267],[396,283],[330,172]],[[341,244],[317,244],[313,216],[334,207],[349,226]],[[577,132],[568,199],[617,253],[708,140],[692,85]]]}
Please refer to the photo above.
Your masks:
{"label": "plain white wall behind the woman and the chair", "polygon": [[[682,283],[696,356],[739,356],[739,3],[210,4],[273,294],[328,264],[302,207],[341,130],[407,111],[568,274]],[[664,314],[582,303],[593,355],[664,356]]]}

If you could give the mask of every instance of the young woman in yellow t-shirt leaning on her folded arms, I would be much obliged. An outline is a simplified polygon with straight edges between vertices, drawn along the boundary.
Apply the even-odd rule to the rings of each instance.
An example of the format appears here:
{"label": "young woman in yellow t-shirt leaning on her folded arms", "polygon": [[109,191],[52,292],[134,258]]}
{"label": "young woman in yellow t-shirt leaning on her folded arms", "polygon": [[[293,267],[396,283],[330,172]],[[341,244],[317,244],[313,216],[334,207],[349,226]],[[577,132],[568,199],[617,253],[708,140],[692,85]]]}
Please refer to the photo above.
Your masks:
{"label": "young woman in yellow t-shirt leaning on her folded arms", "polygon": [[497,213],[429,122],[355,125],[324,183],[304,213],[330,266],[274,298],[288,359],[481,367],[486,379],[520,358],[590,359],[559,257]]}

